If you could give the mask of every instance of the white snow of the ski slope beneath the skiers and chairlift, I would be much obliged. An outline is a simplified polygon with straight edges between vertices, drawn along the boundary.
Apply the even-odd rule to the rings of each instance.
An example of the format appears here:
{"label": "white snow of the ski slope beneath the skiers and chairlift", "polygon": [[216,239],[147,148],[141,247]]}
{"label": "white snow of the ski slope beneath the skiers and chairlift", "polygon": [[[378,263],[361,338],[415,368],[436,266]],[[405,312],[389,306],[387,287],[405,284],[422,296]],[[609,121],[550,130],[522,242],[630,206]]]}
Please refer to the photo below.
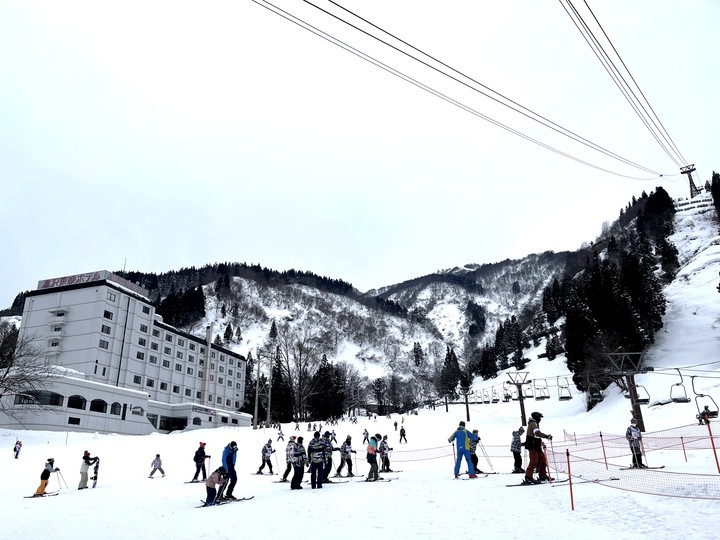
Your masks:
{"label": "white snow of the ski slope beneath the skiers and chairlift", "polygon": [[[668,285],[668,309],[665,326],[657,334],[646,360],[655,368],[637,376],[650,393],[651,400],[667,399],[672,385],[679,382],[681,368],[689,396],[694,397],[691,377],[699,392],[720,399],[716,384],[719,364],[718,322],[718,237],[717,224],[710,213],[680,213],[678,232],[673,241],[681,252],[683,268]],[[615,387],[592,411],[585,412],[582,396],[557,399],[558,377],[568,376],[564,358],[550,362],[536,358],[541,350],[526,351],[533,358],[527,371],[531,379],[544,379],[550,385],[550,399],[526,402],[528,414],[539,410],[545,418],[542,428],[555,435],[553,449],[571,448],[563,432],[622,436],[629,421],[629,402]],[[501,374],[493,381],[476,381],[474,390],[500,388],[507,380]],[[574,387],[572,387],[574,390]],[[643,406],[647,428],[644,437],[651,441],[653,432],[670,428],[691,429],[695,423],[695,402]],[[465,407],[451,405],[436,410],[420,409],[404,418],[408,443],[398,444],[393,426],[402,418],[360,418],[358,424],[341,422],[334,429],[338,441],[352,435],[357,450],[356,472],[365,473],[362,432],[388,434],[392,467],[399,473],[383,476],[391,482],[365,483],[353,480],[345,484],[311,490],[291,491],[289,484],[275,483],[277,476],[256,476],[260,449],[272,439],[277,449],[275,471],[284,470],[285,444],[276,442],[274,429],[223,428],[197,430],[171,435],[142,437],[84,433],[0,430],[0,457],[6,489],[0,492],[3,508],[2,536],[21,538],[35,531],[54,539],[95,538],[103,533],[113,539],[125,538],[290,538],[312,534],[342,536],[345,540],[381,535],[383,538],[443,537],[480,535],[484,538],[509,538],[521,535],[551,536],[554,539],[588,538],[670,539],[714,538],[720,530],[717,500],[693,498],[693,479],[687,476],[690,498],[667,497],[631,492],[607,483],[575,483],[574,509],[571,508],[569,483],[507,488],[519,483],[521,475],[507,474],[512,467],[509,451],[511,432],[519,427],[517,402],[493,405],[474,404],[469,408],[468,428],[478,428],[488,460],[478,452],[480,467],[490,475],[473,481],[453,479],[452,446],[447,437],[459,420],[465,420]],[[717,426],[718,424],[711,424]],[[294,424],[283,425],[285,438]],[[301,424],[305,442],[312,434]],[[11,447],[16,437],[23,441],[20,458],[15,460]],[[198,442],[207,443],[212,456],[210,470],[220,465],[223,448],[235,440],[239,446],[236,496],[254,496],[251,501],[214,508],[196,508],[205,497],[204,484],[185,484],[194,473],[192,456]],[[651,447],[652,445],[649,445]],[[84,450],[101,458],[96,489],[78,491],[79,468]],[[167,473],[165,478],[148,479],[150,462],[159,453]],[[622,452],[621,452],[622,454]],[[62,478],[53,474],[48,490],[60,489],[57,497],[26,499],[39,483],[45,461],[53,457]],[[337,454],[335,454],[337,463]],[[712,451],[690,449],[687,461],[676,449],[648,452],[647,463],[666,465],[663,471],[631,471],[650,474],[648,478],[677,478],[677,473],[712,475],[718,469]],[[611,467],[627,466],[630,452],[610,458]],[[526,461],[525,461],[526,463]],[[553,465],[551,461],[551,466]],[[464,470],[464,466],[463,466]],[[210,472],[210,471],[208,471]],[[610,473],[609,473],[610,474]],[[665,476],[663,476],[665,475]],[[556,474],[558,479],[564,474]],[[306,479],[308,475],[306,475]],[[697,477],[700,478],[700,477]],[[617,483],[620,484],[620,483]],[[652,488],[652,480],[648,481]],[[699,491],[698,491],[699,493]]]}

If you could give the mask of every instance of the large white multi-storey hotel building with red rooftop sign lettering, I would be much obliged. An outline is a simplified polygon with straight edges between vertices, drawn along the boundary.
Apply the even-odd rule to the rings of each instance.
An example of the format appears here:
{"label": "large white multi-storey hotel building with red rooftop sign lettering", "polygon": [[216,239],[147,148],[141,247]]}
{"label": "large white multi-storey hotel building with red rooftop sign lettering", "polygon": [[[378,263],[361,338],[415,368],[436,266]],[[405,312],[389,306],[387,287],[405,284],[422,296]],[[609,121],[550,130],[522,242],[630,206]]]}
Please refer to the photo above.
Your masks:
{"label": "large white multi-storey hotel building with red rooftop sign lettering", "polygon": [[[107,271],[38,283],[20,326],[49,363],[47,391],[8,396],[17,429],[147,434],[248,426],[245,358],[164,324],[141,287]],[[45,405],[36,410],[29,404]]]}

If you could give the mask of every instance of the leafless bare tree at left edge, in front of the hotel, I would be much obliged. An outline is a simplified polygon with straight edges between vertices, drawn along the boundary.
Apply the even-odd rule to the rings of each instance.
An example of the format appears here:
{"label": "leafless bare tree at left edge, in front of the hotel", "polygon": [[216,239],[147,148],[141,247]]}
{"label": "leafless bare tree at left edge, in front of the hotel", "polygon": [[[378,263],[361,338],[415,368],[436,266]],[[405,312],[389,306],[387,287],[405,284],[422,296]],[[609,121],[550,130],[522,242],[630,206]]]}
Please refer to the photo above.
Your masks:
{"label": "leafless bare tree at left edge, in front of the hotel", "polygon": [[[51,404],[47,390],[54,366],[35,341],[35,336],[21,336],[15,325],[0,321],[0,412],[14,420],[26,412],[48,410]],[[22,409],[12,407],[18,401]]]}

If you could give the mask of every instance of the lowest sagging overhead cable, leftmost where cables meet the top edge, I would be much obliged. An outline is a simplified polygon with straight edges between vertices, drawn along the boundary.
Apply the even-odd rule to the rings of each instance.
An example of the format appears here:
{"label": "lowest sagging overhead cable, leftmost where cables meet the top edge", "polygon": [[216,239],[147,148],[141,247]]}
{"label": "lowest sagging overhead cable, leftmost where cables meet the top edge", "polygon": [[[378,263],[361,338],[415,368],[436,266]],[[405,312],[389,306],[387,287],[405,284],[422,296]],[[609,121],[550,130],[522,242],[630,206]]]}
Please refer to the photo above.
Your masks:
{"label": "lowest sagging overhead cable, leftmost where cables meet the top edge", "polygon": [[533,143],[533,144],[536,144],[536,145],[538,145],[538,146],[540,146],[540,147],[542,147],[542,148],[545,148],[546,150],[549,150],[549,151],[551,151],[551,152],[554,152],[554,153],[556,153],[556,154],[558,154],[558,155],[560,155],[560,156],[566,157],[566,158],[571,159],[571,160],[573,160],[573,161],[575,161],[575,162],[577,162],[577,163],[580,163],[580,164],[582,164],[582,165],[586,165],[586,166],[591,167],[591,168],[594,168],[594,169],[596,169],[596,170],[600,170],[600,171],[606,172],[606,173],[608,173],[608,174],[612,174],[612,175],[614,175],[614,176],[618,176],[618,177],[621,177],[621,178],[628,178],[628,179],[631,179],[631,180],[649,181],[649,180],[654,180],[654,179],[656,179],[656,178],[659,178],[659,177],[662,177],[662,176],[663,176],[663,174],[657,173],[657,172],[652,171],[652,170],[648,170],[648,172],[651,172],[651,173],[655,174],[656,176],[653,176],[653,177],[650,177],[650,178],[647,178],[647,177],[638,177],[638,176],[631,176],[631,175],[623,174],[623,173],[620,173],[620,172],[617,172],[617,171],[612,171],[612,170],[610,170],[610,169],[607,169],[607,168],[601,167],[601,166],[599,166],[599,165],[595,165],[595,164],[593,164],[593,163],[590,163],[590,162],[588,162],[588,161],[585,161],[585,160],[583,160],[583,159],[580,159],[580,158],[578,158],[578,157],[576,157],[576,156],[573,156],[572,154],[569,154],[569,153],[564,152],[564,151],[562,151],[562,150],[559,150],[559,149],[557,149],[557,148],[555,148],[555,147],[553,147],[553,146],[550,146],[550,145],[548,145],[548,144],[546,144],[546,143],[543,143],[543,142],[541,142],[541,141],[539,141],[539,140],[537,140],[537,139],[534,139],[533,137],[530,137],[529,135],[526,135],[526,134],[522,133],[522,132],[519,131],[519,130],[516,130],[516,129],[514,129],[514,128],[511,128],[511,127],[503,124],[502,122],[499,122],[499,121],[497,121],[497,120],[494,120],[493,118],[490,118],[489,116],[487,116],[487,115],[485,115],[485,114],[483,114],[483,113],[481,113],[481,112],[479,112],[479,111],[477,111],[477,110],[469,107],[468,105],[465,105],[465,104],[463,104],[463,103],[461,103],[461,102],[459,102],[459,101],[457,101],[457,100],[455,100],[455,99],[453,99],[453,98],[451,98],[451,97],[443,94],[442,92],[440,92],[440,91],[438,91],[438,90],[435,90],[434,88],[432,88],[432,87],[430,87],[430,86],[428,86],[428,85],[425,85],[424,83],[421,83],[420,81],[418,81],[418,80],[416,80],[416,79],[413,79],[413,78],[410,77],[409,75],[407,75],[407,74],[405,74],[405,73],[403,73],[403,72],[401,72],[401,71],[399,71],[399,70],[397,70],[397,69],[395,69],[395,68],[392,68],[392,67],[388,66],[387,64],[384,64],[383,62],[377,60],[376,58],[374,58],[374,57],[372,57],[372,56],[370,56],[370,55],[368,55],[368,54],[366,54],[366,53],[363,53],[362,51],[359,51],[358,49],[355,49],[354,47],[348,45],[347,43],[343,42],[342,40],[340,40],[340,39],[338,39],[338,38],[335,38],[334,36],[332,36],[332,35],[330,35],[330,34],[327,34],[326,32],[324,32],[324,31],[322,31],[322,30],[314,27],[313,25],[307,23],[306,21],[300,19],[299,17],[296,17],[295,15],[292,15],[291,13],[289,13],[289,12],[287,12],[287,11],[279,8],[278,6],[272,4],[271,2],[268,2],[267,0],[252,0],[252,1],[253,1],[255,4],[259,5],[260,7],[263,7],[263,8],[265,8],[265,9],[267,9],[267,10],[270,11],[271,13],[274,13],[275,15],[278,15],[278,16],[284,18],[285,20],[287,20],[287,21],[289,21],[289,22],[292,22],[293,24],[299,26],[300,28],[302,28],[302,29],[304,29],[304,30],[307,30],[307,31],[309,31],[309,32],[312,32],[313,34],[317,35],[318,37],[320,37],[320,38],[322,38],[322,39],[324,39],[324,40],[332,43],[332,44],[335,45],[335,46],[338,46],[338,47],[346,50],[347,52],[349,52],[349,53],[351,53],[351,54],[354,54],[355,56],[357,56],[357,57],[359,57],[359,58],[361,58],[361,59],[363,59],[363,60],[365,60],[365,61],[367,61],[367,62],[369,62],[369,63],[371,63],[371,64],[373,64],[373,65],[375,65],[376,67],[379,67],[379,68],[387,71],[388,73],[390,73],[390,74],[392,74],[392,75],[395,75],[396,77],[398,77],[398,78],[400,78],[400,79],[403,79],[403,80],[405,80],[406,82],[409,82],[410,84],[413,84],[414,86],[417,86],[418,88],[420,88],[420,89],[422,89],[422,90],[424,90],[424,91],[426,91],[426,92],[428,92],[428,93],[430,93],[430,94],[433,94],[434,96],[439,97],[440,99],[443,99],[443,100],[447,101],[448,103],[450,103],[450,104],[452,104],[452,105],[455,105],[456,107],[458,107],[458,108],[460,108],[460,109],[465,110],[466,112],[469,112],[469,113],[471,113],[471,114],[473,114],[473,115],[475,115],[475,116],[477,116],[477,117],[479,117],[479,118],[482,118],[483,120],[485,120],[485,121],[487,121],[487,122],[489,122],[489,123],[491,123],[491,124],[493,124],[493,125],[501,128],[501,129],[504,129],[504,130],[506,130],[506,131],[514,134],[514,135],[517,135],[517,136],[525,139],[525,140],[528,141],[528,142],[531,142],[531,143]]}

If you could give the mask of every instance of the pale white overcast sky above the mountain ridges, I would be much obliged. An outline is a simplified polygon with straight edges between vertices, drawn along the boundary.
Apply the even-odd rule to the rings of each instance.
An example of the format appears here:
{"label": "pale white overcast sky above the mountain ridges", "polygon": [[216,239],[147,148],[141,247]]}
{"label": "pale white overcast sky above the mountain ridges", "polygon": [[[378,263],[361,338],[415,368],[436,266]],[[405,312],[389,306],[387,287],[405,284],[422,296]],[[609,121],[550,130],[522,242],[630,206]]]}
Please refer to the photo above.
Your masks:
{"label": "pale white overcast sky above the mountain ridges", "polygon": [[[560,2],[273,5],[0,0],[0,225],[12,231],[0,306],[51,277],[226,261],[367,291],[467,263],[576,249],[643,191],[661,185],[688,196],[677,164]],[[717,168],[708,36],[720,6],[590,7],[704,183]],[[476,83],[652,172],[539,127]]]}

